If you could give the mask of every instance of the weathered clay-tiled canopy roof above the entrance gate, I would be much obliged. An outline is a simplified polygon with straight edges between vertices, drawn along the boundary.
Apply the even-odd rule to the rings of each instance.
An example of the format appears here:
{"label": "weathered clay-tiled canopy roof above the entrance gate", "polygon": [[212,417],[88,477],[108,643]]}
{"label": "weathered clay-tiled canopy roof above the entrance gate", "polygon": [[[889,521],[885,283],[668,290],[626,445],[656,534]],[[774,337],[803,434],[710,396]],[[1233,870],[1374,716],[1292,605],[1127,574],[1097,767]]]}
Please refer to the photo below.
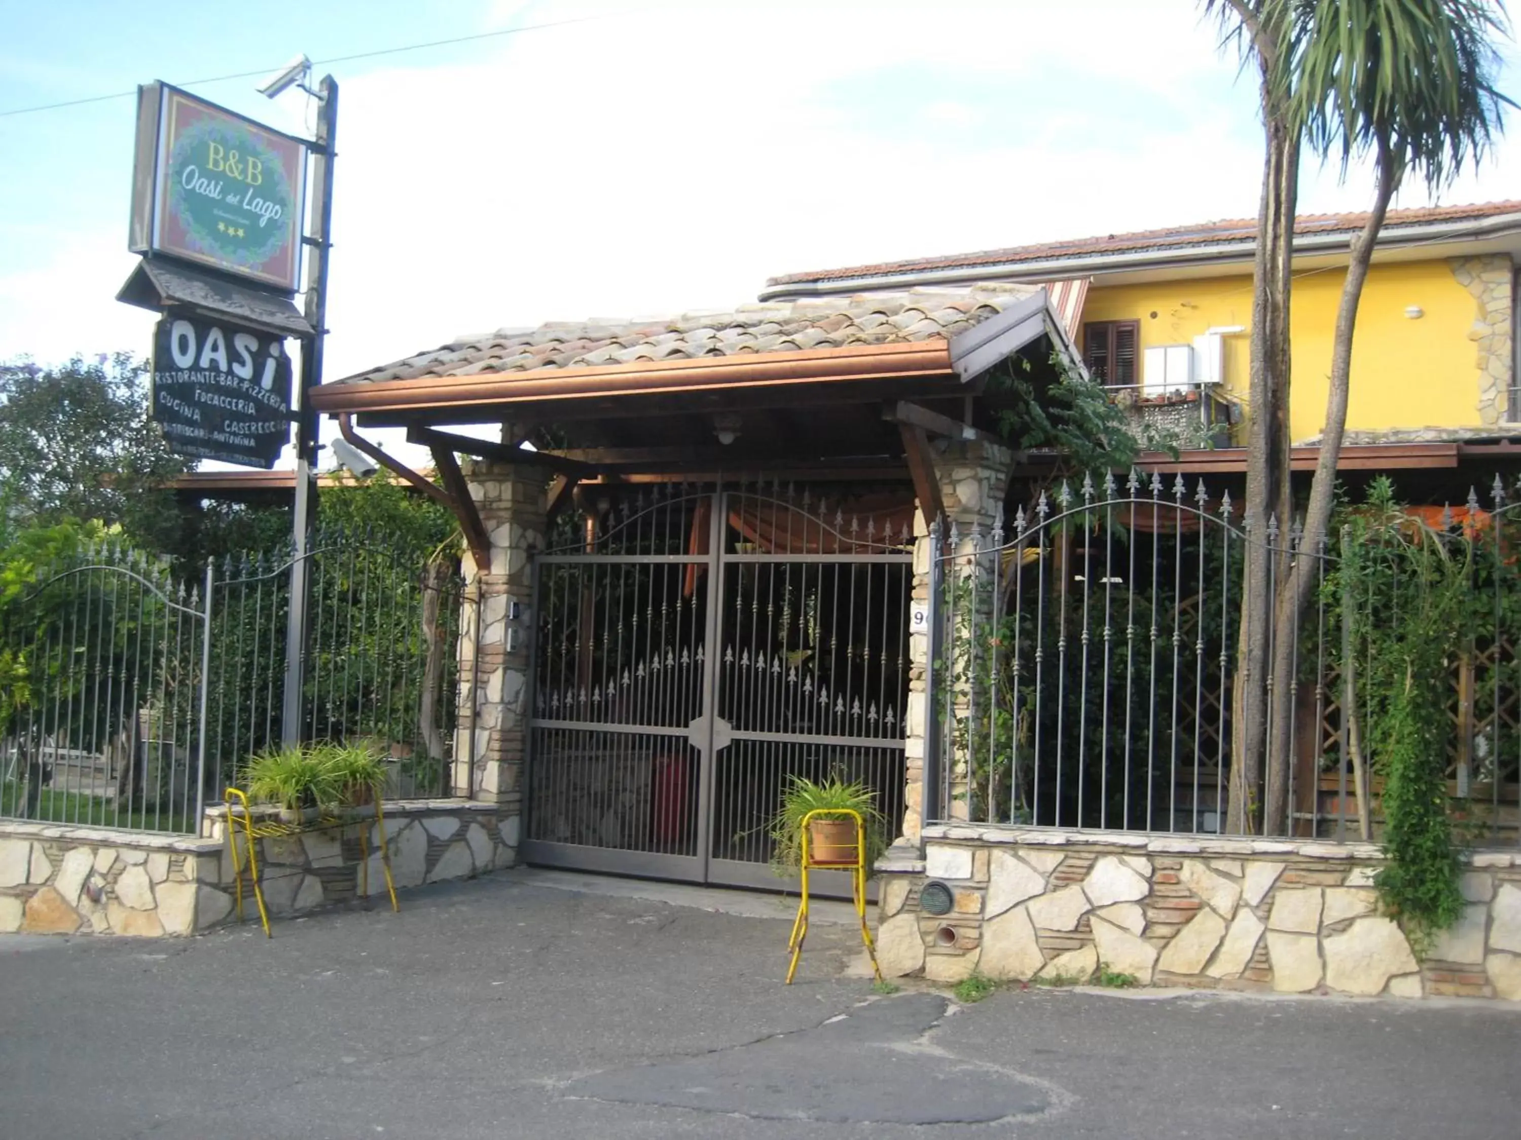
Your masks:
{"label": "weathered clay-tiled canopy roof above the entrance gate", "polygon": [[538,328],[499,328],[459,336],[403,360],[338,383],[415,380],[429,375],[485,375],[541,368],[605,368],[640,360],[675,360],[744,353],[949,340],[1039,286],[976,284],[902,293],[832,296],[745,304],[729,313],[686,313],[649,319],[551,321]]}

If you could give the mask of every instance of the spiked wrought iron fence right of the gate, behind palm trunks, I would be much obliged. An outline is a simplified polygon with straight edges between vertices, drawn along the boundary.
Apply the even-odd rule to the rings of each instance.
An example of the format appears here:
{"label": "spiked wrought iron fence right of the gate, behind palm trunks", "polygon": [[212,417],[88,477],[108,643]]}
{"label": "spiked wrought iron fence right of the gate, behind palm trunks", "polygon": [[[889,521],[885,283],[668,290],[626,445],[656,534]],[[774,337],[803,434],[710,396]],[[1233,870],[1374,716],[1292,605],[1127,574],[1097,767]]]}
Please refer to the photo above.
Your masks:
{"label": "spiked wrought iron fence right of the gate, behind palm trunks", "polygon": [[[1521,489],[1521,488],[1518,488]],[[929,818],[1098,830],[1261,833],[1252,789],[1278,768],[1279,828],[1328,839],[1381,830],[1389,669],[1380,623],[1428,588],[1407,558],[1419,537],[1448,561],[1463,614],[1440,666],[1454,813],[1475,838],[1516,834],[1521,771],[1521,503],[1399,509],[1331,543],[1297,523],[1255,527],[1229,494],[1106,474],[1042,492],[992,530],[932,532]],[[1369,508],[1373,509],[1373,508]],[[1387,509],[1387,506],[1386,506]],[[1357,558],[1345,544],[1357,543]],[[1258,676],[1282,725],[1247,769],[1237,731],[1253,678],[1238,667],[1241,568],[1267,547],[1269,590],[1308,575],[1299,620]],[[1387,547],[1387,549],[1384,549]],[[1372,556],[1387,573],[1364,575]],[[1415,591],[1415,593],[1411,593]],[[1354,666],[1355,667],[1351,667]],[[1446,731],[1450,730],[1450,731]],[[1255,777],[1255,778],[1250,778]],[[1232,790],[1232,778],[1237,787]]]}

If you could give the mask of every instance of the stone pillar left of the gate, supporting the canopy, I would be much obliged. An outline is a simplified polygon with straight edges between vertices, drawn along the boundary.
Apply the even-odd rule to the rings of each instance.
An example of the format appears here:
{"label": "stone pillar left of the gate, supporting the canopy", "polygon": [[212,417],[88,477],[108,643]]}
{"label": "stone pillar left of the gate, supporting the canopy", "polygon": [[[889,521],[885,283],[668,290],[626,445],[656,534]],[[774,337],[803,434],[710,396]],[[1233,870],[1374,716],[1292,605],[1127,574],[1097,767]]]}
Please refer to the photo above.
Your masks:
{"label": "stone pillar left of the gate, supporting the canopy", "polygon": [[[502,839],[517,847],[528,737],[531,555],[543,546],[546,479],[540,468],[475,461],[470,497],[491,540],[491,565],[464,555],[455,795],[502,806]],[[522,606],[511,619],[511,603]]]}

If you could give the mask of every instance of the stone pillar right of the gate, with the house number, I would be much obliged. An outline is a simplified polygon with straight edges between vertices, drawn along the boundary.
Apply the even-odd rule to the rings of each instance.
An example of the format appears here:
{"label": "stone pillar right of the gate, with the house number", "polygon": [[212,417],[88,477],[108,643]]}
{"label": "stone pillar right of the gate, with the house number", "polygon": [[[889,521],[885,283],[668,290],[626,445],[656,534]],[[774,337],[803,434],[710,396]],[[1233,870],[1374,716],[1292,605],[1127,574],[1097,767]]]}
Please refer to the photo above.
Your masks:
{"label": "stone pillar right of the gate, with the house number", "polygon": [[[935,448],[935,479],[945,502],[946,517],[958,534],[958,546],[970,552],[973,534],[981,534],[984,549],[992,541],[993,527],[1008,489],[1013,451],[999,444],[973,439],[949,442]],[[929,527],[923,509],[914,514],[914,593],[916,605],[929,605],[929,564],[932,558]],[[925,803],[925,731],[929,722],[929,695],[925,692],[925,663],[929,658],[928,628],[914,629],[908,638],[908,708],[903,758],[908,786],[905,789],[902,841],[919,845]],[[941,757],[954,763],[954,757]],[[952,768],[952,780],[955,780]],[[963,769],[964,771],[964,769]],[[964,783],[964,775],[963,775]],[[966,800],[941,804],[949,815],[966,813]]]}

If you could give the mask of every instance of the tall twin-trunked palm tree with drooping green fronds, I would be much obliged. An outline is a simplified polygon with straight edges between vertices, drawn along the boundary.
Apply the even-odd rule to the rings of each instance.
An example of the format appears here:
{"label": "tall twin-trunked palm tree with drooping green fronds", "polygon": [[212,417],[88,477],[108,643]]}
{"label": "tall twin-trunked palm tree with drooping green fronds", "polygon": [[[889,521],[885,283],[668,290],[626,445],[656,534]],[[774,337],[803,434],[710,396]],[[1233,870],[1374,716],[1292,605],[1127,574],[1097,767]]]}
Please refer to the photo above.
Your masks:
{"label": "tall twin-trunked palm tree with drooping green fronds", "polygon": [[[1316,552],[1326,537],[1346,429],[1358,302],[1389,202],[1411,172],[1430,190],[1440,190],[1489,150],[1503,106],[1513,105],[1495,88],[1494,40],[1507,32],[1507,20],[1498,0],[1205,0],[1205,11],[1247,46],[1261,73],[1267,163],[1258,217],[1246,496],[1247,517],[1255,512],[1258,526],[1269,503],[1285,527],[1293,515],[1288,298],[1299,143],[1305,140],[1323,158],[1337,157],[1343,176],[1352,160],[1375,160],[1378,188],[1351,248],[1303,521],[1300,549]],[[1250,830],[1261,803],[1269,834],[1287,825],[1293,699],[1281,696],[1269,707],[1265,682],[1291,675],[1293,629],[1314,581],[1308,567],[1290,562],[1284,552],[1270,576],[1272,556],[1259,532],[1243,582],[1229,813],[1230,827]],[[1270,581],[1279,582],[1276,599],[1269,597]],[[1262,771],[1265,787],[1258,781]]]}

